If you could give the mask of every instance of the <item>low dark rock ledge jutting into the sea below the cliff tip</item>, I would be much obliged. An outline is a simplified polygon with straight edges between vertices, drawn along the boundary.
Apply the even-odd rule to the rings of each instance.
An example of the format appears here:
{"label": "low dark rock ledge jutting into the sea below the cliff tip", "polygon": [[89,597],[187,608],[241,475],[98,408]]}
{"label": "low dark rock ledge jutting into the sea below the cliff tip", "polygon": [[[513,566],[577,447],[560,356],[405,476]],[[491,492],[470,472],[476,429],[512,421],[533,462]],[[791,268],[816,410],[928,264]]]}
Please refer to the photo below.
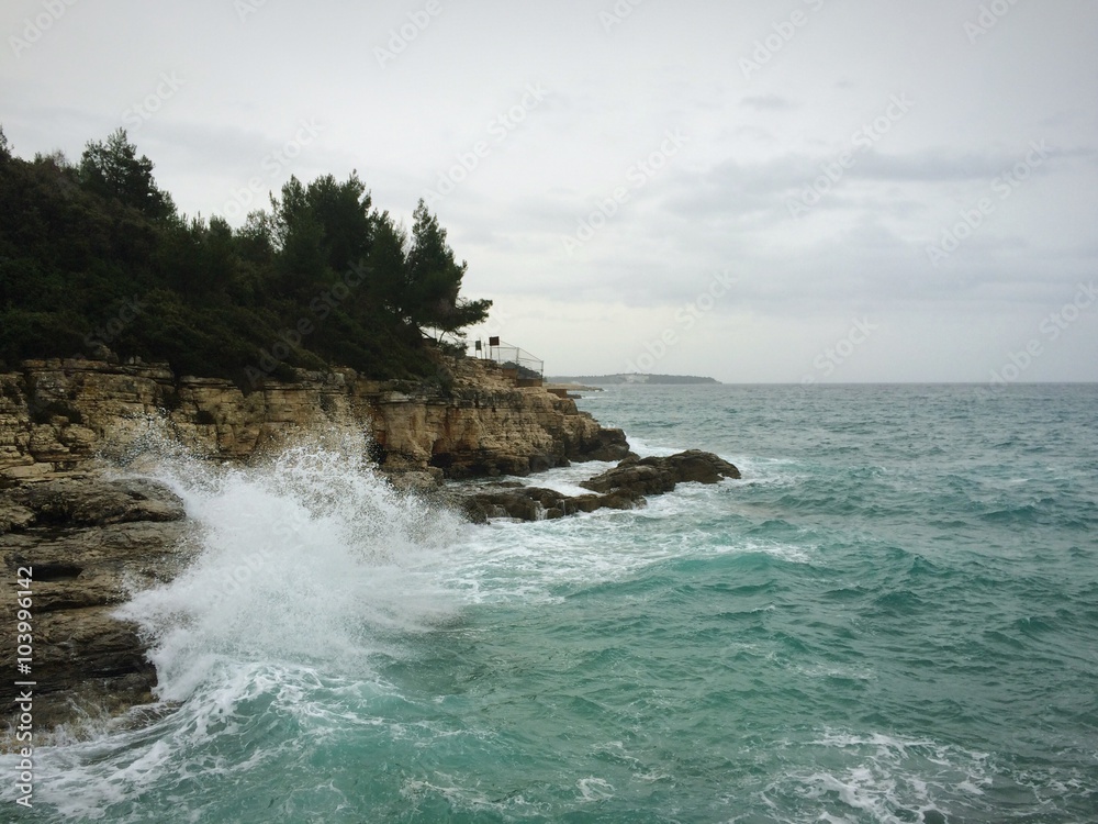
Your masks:
{"label": "low dark rock ledge jutting into the sea below the cliff tip", "polygon": [[739,477],[739,469],[713,453],[687,449],[666,457],[625,458],[613,469],[580,483],[592,494],[568,495],[505,482],[489,490],[460,492],[455,503],[473,523],[500,517],[541,521],[598,509],[636,509],[645,505],[646,495],[670,492],[679,483],[717,483]]}

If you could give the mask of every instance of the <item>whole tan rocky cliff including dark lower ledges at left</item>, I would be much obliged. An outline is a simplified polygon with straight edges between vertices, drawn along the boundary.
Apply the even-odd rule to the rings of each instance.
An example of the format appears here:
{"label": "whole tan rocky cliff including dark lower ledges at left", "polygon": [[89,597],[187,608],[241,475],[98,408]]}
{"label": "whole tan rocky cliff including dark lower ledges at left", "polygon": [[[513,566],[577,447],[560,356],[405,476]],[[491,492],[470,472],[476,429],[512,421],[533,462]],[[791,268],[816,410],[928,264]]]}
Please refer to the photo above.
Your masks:
{"label": "whole tan rocky cliff including dark lower ledges at left", "polygon": [[[35,723],[152,697],[136,627],[112,613],[135,588],[182,568],[188,525],[169,490],[112,478],[97,459],[124,453],[150,424],[197,454],[242,461],[311,431],[365,430],[370,457],[406,486],[628,454],[620,430],[602,428],[570,399],[516,388],[483,361],[438,364],[438,380],[426,383],[336,369],[249,392],[163,365],[30,360],[0,374],[0,614],[15,626],[16,572],[33,568]],[[13,633],[0,649],[7,675]],[[9,717],[13,680],[0,681]]]}

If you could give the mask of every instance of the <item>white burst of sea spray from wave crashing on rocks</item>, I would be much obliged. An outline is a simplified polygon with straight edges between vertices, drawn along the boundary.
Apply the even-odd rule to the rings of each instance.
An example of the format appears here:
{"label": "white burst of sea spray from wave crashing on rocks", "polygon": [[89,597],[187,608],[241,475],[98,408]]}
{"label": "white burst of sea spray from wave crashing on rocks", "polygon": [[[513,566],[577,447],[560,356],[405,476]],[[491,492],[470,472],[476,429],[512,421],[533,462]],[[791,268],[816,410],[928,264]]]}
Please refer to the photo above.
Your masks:
{"label": "white burst of sea spray from wave crashing on rocks", "polygon": [[248,467],[178,452],[150,467],[143,454],[182,497],[198,545],[173,581],[119,611],[152,642],[161,699],[187,699],[226,660],[362,671],[394,633],[451,617],[434,566],[460,520],[394,490],[366,447],[330,432]]}

